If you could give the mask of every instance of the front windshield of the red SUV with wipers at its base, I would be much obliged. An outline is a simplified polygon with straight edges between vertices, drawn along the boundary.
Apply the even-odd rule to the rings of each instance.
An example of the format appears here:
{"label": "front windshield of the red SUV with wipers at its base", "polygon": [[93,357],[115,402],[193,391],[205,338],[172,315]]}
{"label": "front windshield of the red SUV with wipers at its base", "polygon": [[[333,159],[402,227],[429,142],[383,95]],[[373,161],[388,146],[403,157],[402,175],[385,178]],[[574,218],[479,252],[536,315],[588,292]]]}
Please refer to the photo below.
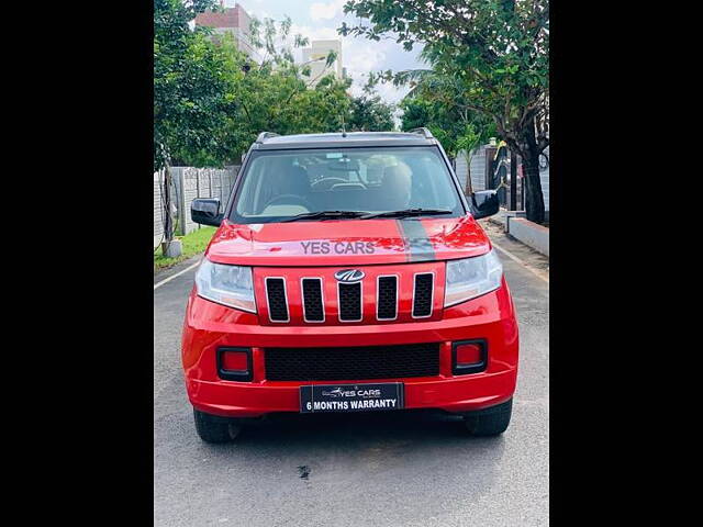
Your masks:
{"label": "front windshield of the red SUV with wipers at its base", "polygon": [[409,210],[413,216],[424,210],[449,217],[465,213],[436,147],[254,152],[230,220],[353,218]]}

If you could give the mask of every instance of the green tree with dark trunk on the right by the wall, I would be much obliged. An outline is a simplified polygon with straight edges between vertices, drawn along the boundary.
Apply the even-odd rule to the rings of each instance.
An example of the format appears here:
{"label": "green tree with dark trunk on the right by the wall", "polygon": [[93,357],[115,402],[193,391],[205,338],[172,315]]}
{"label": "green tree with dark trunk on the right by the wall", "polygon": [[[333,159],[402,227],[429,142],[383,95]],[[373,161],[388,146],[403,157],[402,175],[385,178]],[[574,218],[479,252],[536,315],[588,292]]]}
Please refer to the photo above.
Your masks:
{"label": "green tree with dark trunk on the right by the wall", "polygon": [[[423,43],[432,70],[386,71],[383,80],[455,83],[460,106],[490,117],[523,158],[526,214],[544,222],[539,154],[549,145],[548,0],[349,0],[345,12],[370,24],[346,23],[343,35],[380,40],[390,33],[411,51]],[[429,78],[429,79],[427,79]],[[451,90],[449,90],[449,93]]]}

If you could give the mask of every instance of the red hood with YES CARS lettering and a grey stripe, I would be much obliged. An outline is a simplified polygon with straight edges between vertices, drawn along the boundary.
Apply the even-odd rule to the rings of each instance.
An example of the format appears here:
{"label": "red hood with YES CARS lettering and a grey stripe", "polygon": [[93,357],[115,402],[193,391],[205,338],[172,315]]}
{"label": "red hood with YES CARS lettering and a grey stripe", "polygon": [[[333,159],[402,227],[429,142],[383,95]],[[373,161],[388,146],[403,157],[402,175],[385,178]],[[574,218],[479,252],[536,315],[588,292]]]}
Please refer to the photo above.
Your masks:
{"label": "red hood with YES CARS lettering and a grey stripe", "polygon": [[361,266],[466,258],[490,248],[470,215],[246,225],[224,221],[207,256],[244,266]]}

